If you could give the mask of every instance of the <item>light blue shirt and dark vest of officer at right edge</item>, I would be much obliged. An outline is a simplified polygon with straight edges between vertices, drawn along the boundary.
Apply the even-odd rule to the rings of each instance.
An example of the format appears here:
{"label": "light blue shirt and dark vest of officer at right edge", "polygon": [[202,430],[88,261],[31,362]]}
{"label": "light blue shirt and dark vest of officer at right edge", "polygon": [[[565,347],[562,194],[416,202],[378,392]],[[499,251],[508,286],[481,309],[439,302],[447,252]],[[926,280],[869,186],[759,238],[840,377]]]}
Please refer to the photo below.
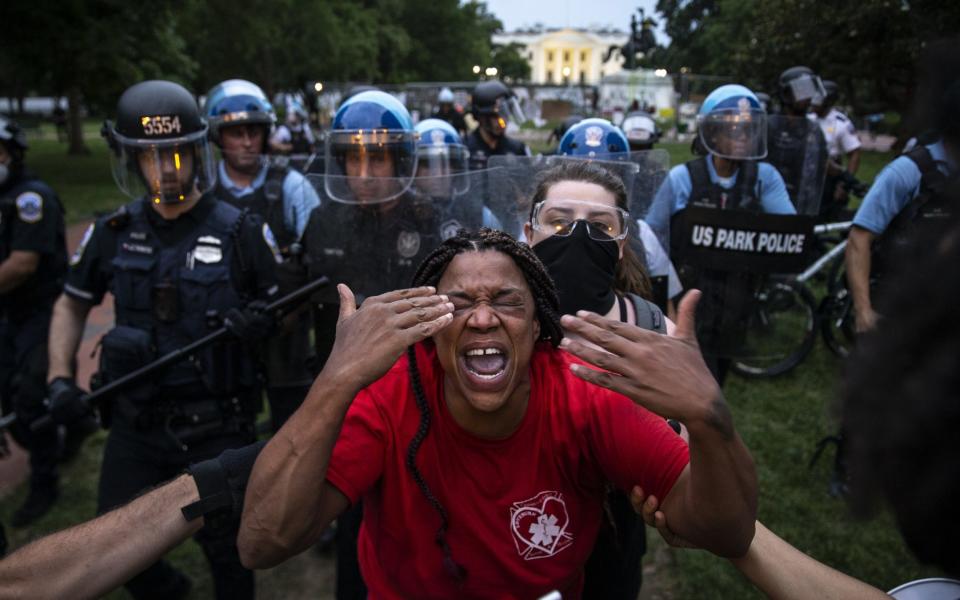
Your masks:
{"label": "light blue shirt and dark vest of officer at right edge", "polygon": [[878,236],[874,276],[882,274],[915,227],[934,226],[955,212],[943,187],[958,172],[943,143],[936,142],[897,157],[877,175],[853,217],[855,226]]}

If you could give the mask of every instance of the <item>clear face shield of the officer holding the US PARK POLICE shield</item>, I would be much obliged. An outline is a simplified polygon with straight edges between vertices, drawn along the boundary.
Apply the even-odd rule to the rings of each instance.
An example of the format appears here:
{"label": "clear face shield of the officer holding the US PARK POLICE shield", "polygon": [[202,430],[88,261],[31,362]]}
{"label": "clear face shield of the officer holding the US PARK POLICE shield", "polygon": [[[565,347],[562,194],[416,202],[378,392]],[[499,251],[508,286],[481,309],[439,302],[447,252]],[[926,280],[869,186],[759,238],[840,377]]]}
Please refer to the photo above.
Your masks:
{"label": "clear face shield of the officer holding the US PARK POLICE shield", "polygon": [[700,115],[697,129],[711,154],[732,160],[767,155],[767,115],[759,108],[727,108]]}

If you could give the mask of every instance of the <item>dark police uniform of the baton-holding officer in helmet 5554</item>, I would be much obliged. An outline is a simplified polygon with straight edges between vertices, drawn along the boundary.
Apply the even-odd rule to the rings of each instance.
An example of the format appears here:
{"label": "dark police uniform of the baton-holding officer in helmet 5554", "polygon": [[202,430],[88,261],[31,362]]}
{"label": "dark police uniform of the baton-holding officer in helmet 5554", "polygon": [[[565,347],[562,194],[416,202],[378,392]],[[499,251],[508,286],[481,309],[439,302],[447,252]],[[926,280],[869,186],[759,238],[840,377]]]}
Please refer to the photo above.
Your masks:
{"label": "dark police uniform of the baton-holding officer in helmet 5554", "polygon": [[[269,227],[211,194],[164,220],[146,199],[88,229],[71,258],[64,293],[98,304],[114,296],[116,326],[101,340],[101,376],[114,380],[219,328],[221,317],[277,292],[280,260]],[[98,512],[136,497],[190,463],[250,443],[260,389],[252,352],[230,340],[199,351],[121,392],[106,418]],[[219,597],[252,597],[253,574],[239,562],[236,529],[197,540]],[[134,532],[135,533],[135,532]],[[171,596],[182,579],[164,561],[133,578],[137,598]]]}

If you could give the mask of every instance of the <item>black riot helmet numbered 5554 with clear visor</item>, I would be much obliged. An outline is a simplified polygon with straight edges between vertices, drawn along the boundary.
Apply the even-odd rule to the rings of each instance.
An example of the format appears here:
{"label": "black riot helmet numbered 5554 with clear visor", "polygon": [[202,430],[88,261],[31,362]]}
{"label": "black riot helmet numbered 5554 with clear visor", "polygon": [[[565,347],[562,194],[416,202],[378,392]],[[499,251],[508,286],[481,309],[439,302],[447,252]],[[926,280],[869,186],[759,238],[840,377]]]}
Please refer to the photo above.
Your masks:
{"label": "black riot helmet numbered 5554 with clear visor", "polygon": [[206,122],[183,86],[151,80],[130,86],[117,102],[117,120],[101,131],[110,146],[114,181],[131,198],[186,201],[215,181]]}

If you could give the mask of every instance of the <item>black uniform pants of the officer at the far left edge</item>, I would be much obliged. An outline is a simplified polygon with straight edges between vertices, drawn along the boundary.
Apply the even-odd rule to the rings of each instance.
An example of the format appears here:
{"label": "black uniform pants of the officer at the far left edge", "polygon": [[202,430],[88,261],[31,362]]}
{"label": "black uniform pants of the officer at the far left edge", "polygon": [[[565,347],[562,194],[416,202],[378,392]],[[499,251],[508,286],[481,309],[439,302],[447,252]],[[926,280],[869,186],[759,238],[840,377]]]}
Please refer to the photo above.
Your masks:
{"label": "black uniform pants of the officer at the far left edge", "polygon": [[47,391],[47,334],[51,310],[0,318],[0,399],[3,412],[16,412],[27,422],[11,428],[17,443],[30,451],[32,489],[57,485],[59,442],[57,430],[30,430],[30,423],[46,413],[43,398]]}

